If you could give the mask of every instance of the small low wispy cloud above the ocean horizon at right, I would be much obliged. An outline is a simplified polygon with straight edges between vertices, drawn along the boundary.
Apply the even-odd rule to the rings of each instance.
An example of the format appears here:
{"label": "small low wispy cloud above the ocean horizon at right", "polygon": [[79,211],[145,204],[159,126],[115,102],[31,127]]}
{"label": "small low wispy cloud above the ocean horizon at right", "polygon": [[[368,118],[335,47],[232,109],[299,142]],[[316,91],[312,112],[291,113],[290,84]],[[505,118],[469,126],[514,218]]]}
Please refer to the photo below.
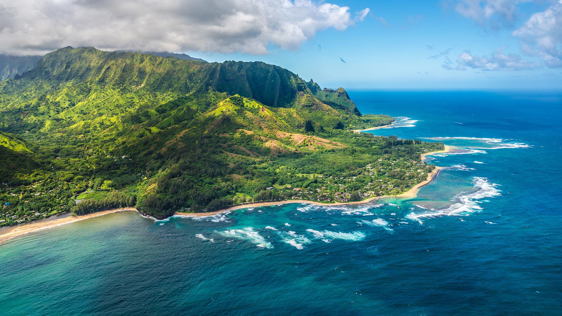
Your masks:
{"label": "small low wispy cloud above the ocean horizon at right", "polygon": [[470,51],[464,51],[459,55],[454,65],[451,60],[446,58],[443,68],[452,70],[467,70],[469,68],[479,70],[528,70],[540,67],[536,62],[524,60],[517,54],[505,54],[505,47],[497,48],[490,56],[473,55]]}

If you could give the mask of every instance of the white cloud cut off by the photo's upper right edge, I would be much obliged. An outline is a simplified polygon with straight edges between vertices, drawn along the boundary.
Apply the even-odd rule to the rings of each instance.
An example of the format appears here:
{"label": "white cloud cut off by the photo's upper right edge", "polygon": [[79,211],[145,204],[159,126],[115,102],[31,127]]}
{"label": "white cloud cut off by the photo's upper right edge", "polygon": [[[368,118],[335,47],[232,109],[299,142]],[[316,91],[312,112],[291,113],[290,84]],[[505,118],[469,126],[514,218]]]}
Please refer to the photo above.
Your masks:
{"label": "white cloud cut off by the photo's upper right edge", "polygon": [[540,57],[547,67],[562,67],[562,0],[534,13],[511,35],[520,39],[526,55]]}

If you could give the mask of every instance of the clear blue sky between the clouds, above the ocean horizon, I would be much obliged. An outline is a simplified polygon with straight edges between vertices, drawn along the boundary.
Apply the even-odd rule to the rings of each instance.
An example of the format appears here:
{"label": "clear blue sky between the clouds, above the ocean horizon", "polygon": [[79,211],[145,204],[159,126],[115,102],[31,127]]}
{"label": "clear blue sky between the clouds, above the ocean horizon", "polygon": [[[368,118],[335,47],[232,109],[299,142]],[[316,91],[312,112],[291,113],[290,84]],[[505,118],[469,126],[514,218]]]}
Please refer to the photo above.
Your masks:
{"label": "clear blue sky between the clouds, above the ocean horizon", "polygon": [[[516,7],[512,21],[477,21],[455,11],[454,4],[438,1],[335,1],[351,12],[370,9],[364,21],[343,31],[327,29],[297,51],[269,47],[266,55],[201,53],[209,61],[261,60],[292,70],[321,87],[347,89],[560,89],[562,69],[525,56],[511,33],[533,13],[552,2],[528,2]],[[384,21],[382,21],[382,19]],[[500,20],[499,17],[496,17]],[[562,25],[560,25],[562,28]],[[320,45],[321,47],[319,47]],[[505,47],[505,48],[504,48]],[[464,51],[490,56],[498,48],[538,64],[534,69],[445,69],[446,57],[456,66]],[[441,55],[440,55],[441,54]],[[434,56],[434,58],[429,58]],[[346,62],[342,62],[343,58]]]}

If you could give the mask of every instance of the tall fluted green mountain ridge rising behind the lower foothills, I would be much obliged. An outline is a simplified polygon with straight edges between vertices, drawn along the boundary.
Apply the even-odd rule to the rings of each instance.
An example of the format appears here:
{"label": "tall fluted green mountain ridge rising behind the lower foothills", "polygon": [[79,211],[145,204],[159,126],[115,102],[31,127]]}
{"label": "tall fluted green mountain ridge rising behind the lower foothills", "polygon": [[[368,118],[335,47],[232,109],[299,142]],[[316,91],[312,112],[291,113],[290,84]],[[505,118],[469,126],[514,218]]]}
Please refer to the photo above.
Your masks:
{"label": "tall fluted green mountain ridge rising behind the lower foothills", "polygon": [[[314,116],[315,123],[327,127],[339,121],[360,123],[355,105],[345,103],[345,91],[315,95],[296,74],[264,62],[207,63],[65,47],[44,56],[34,69],[0,82],[0,89],[0,127],[10,132],[97,126],[125,116],[138,121],[151,116],[151,110],[160,113],[182,102],[197,103],[184,114],[205,111],[217,101],[209,100],[216,93],[238,94],[275,108],[307,109],[301,115]],[[310,105],[311,111],[318,110],[314,115]]]}

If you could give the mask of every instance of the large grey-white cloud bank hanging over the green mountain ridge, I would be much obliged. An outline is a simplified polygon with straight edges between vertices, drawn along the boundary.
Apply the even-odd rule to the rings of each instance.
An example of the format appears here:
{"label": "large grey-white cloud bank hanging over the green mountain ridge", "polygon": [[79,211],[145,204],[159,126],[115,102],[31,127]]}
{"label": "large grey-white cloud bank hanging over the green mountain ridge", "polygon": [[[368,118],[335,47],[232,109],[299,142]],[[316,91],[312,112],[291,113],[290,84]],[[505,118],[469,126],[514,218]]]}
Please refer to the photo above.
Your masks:
{"label": "large grey-white cloud bank hanging over the green mountain ridge", "polygon": [[297,50],[316,32],[345,30],[369,13],[309,0],[0,0],[0,52],[64,46],[263,54]]}

